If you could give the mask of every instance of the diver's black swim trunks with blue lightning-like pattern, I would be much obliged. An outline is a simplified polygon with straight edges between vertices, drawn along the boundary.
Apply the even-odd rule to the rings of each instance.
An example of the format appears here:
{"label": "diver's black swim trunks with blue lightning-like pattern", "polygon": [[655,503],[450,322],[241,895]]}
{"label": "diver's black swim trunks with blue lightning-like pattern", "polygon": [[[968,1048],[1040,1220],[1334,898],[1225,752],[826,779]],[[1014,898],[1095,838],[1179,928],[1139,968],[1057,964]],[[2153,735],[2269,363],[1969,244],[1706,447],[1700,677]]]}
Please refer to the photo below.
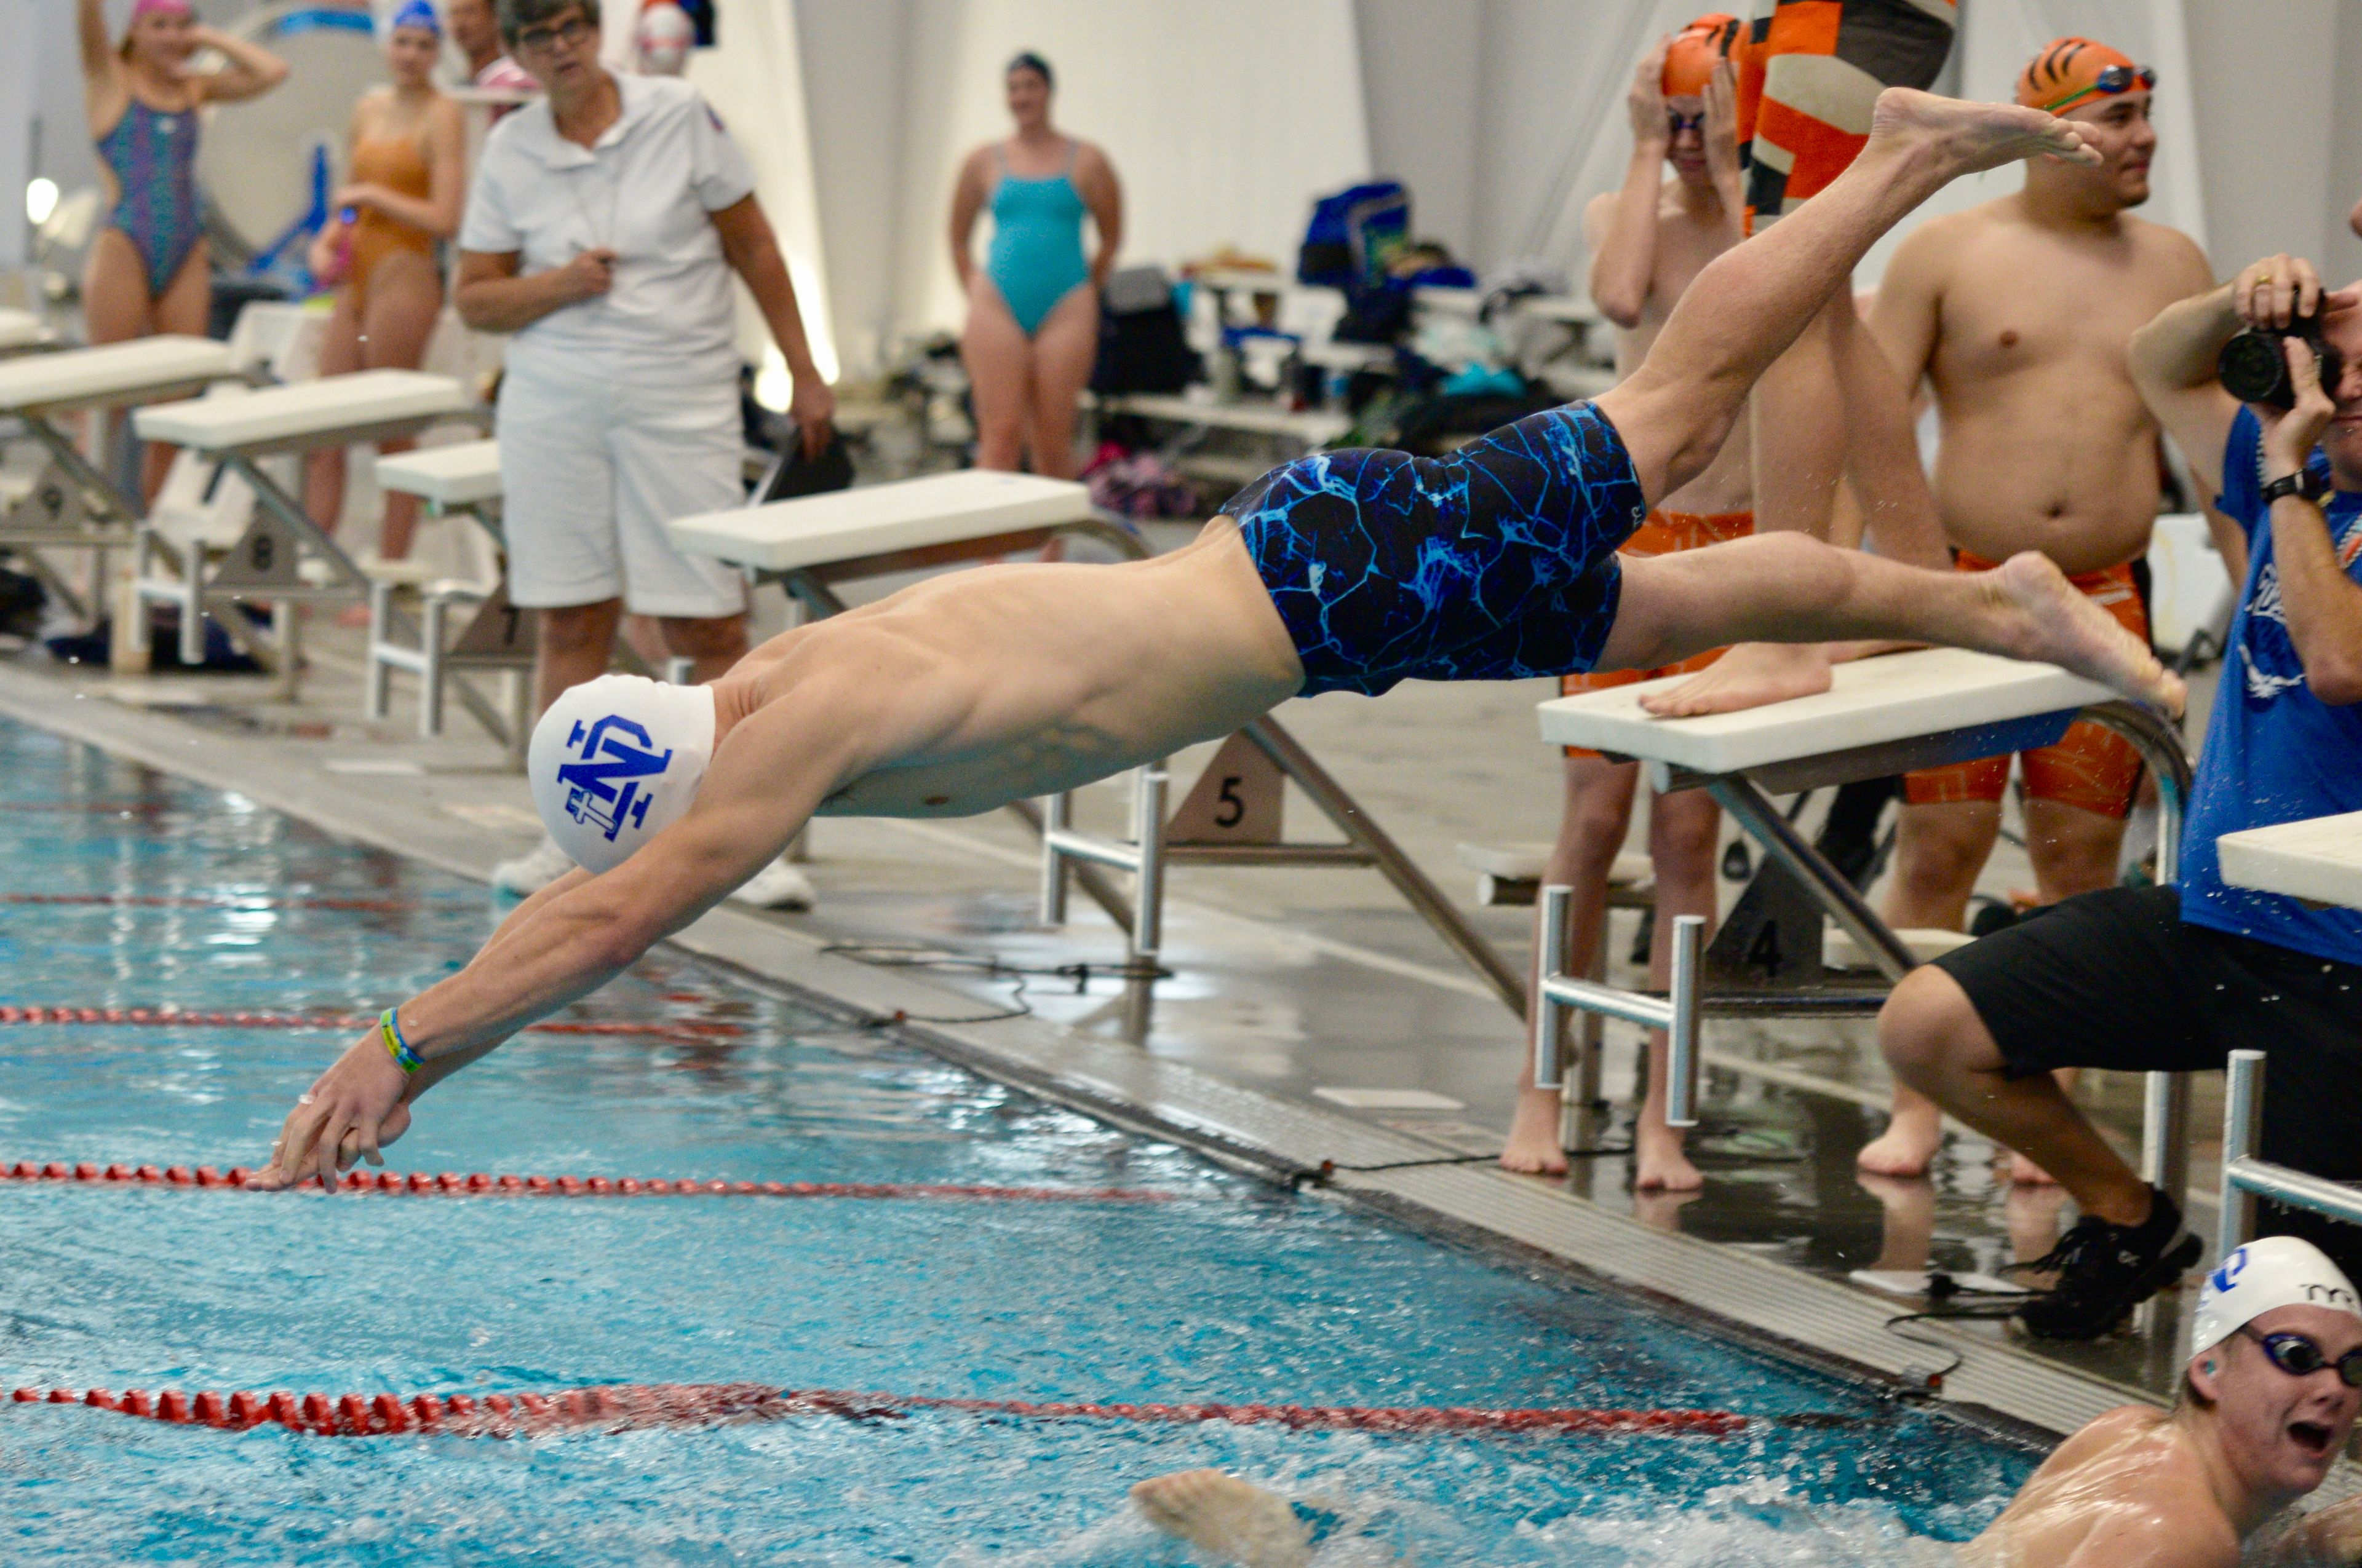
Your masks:
{"label": "diver's black swim trunks with blue lightning-like pattern", "polygon": [[1649,517],[1592,404],[1528,413],[1448,458],[1316,451],[1231,496],[1304,661],[1304,697],[1396,680],[1592,668]]}

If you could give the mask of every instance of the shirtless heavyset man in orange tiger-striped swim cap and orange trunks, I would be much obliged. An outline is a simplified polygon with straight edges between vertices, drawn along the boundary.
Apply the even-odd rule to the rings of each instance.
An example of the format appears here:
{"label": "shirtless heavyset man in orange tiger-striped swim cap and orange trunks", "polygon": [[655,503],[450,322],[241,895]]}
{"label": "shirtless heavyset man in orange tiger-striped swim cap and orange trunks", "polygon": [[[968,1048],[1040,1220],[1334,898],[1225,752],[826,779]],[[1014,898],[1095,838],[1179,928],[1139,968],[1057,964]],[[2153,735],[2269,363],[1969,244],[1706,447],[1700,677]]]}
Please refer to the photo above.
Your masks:
{"label": "shirtless heavyset man in orange tiger-striped swim cap and orange trunks", "polygon": [[[2157,312],[2213,283],[2190,236],[2131,215],[2149,198],[2154,80],[2088,38],[2043,45],[2017,102],[2081,125],[2102,163],[2029,163],[2020,194],[1930,220],[1894,253],[1871,316],[1894,366],[1934,387],[1934,501],[1960,569],[2041,550],[2142,640],[2133,560],[2157,522],[2159,446],[2123,352]],[[2041,902],[2112,888],[2140,784],[2133,744],[2083,723],[2020,763]],[[1908,775],[1892,926],[1965,928],[2008,782],[2008,756]],[[1894,1119],[1861,1150],[1861,1169],[1918,1176],[1942,1136],[1934,1103],[1897,1086]],[[2024,1157],[2015,1174],[2048,1181]]]}

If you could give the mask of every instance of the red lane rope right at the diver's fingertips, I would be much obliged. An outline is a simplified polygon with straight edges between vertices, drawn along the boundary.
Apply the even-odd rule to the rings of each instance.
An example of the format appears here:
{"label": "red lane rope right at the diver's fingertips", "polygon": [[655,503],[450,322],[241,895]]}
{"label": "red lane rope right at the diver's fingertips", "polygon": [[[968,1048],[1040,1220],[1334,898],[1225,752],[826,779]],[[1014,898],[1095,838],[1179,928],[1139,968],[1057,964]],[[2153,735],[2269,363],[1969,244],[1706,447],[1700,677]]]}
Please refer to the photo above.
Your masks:
{"label": "red lane rope right at the diver's fingertips", "polygon": [[[99,1164],[80,1159],[0,1162],[0,1181],[59,1181],[90,1185],[239,1188],[253,1171],[198,1164]],[[342,1190],[399,1197],[950,1197],[997,1202],[1155,1204],[1181,1193],[1148,1188],[997,1188],[957,1181],[699,1181],[694,1176],[494,1176],[487,1171],[371,1171],[338,1178]],[[307,1176],[298,1193],[317,1193]]]}

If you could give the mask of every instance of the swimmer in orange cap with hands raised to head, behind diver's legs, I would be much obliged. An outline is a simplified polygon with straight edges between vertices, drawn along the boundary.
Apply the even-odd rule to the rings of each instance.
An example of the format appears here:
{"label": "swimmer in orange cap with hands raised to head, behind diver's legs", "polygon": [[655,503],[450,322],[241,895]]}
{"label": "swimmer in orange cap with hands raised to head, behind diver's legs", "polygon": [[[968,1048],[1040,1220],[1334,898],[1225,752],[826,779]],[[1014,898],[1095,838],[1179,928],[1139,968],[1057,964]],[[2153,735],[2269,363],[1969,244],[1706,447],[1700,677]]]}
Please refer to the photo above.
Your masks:
{"label": "swimmer in orange cap with hands raised to head, behind diver's legs", "polygon": [[[1616,371],[1630,375],[1649,357],[1675,300],[1698,272],[1738,243],[1738,111],[1729,17],[1698,17],[1649,50],[1632,76],[1632,163],[1620,191],[1604,191],[1583,213],[1592,246],[1592,302],[1616,324]],[[1665,165],[1672,179],[1665,179]],[[1748,503],[1748,430],[1738,430],[1703,475],[1684,484],[1623,543],[1623,555],[1665,555],[1746,538],[1755,531]],[[1701,671],[1720,649],[1656,671],[1564,675],[1559,690],[1599,692],[1613,685]],[[1545,883],[1575,890],[1568,921],[1571,952],[1599,947],[1606,921],[1609,869],[1632,822],[1637,763],[1609,763],[1597,751],[1566,751],[1566,808],[1549,848]],[[1703,789],[1649,801],[1649,860],[1656,867],[1656,942],[1649,985],[1670,985],[1672,921],[1682,914],[1715,919],[1715,838],[1722,808]],[[1540,954],[1540,935],[1535,935]],[[1561,1100],[1533,1086],[1533,1051],[1519,1051],[1516,1119],[1500,1162],[1512,1171],[1566,1171]],[[1682,1155],[1682,1133],[1665,1126],[1665,1037],[1649,1037],[1649,1093],[1632,1124],[1632,1183],[1642,1190],[1686,1193],[1701,1183]]]}

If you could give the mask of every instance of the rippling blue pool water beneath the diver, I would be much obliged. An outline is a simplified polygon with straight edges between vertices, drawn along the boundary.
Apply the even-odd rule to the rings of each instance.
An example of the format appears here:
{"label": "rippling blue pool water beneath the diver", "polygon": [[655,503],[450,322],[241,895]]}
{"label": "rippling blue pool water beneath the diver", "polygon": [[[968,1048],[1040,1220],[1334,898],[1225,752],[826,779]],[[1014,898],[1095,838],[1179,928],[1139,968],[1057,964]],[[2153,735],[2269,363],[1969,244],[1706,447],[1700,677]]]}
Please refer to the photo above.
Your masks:
{"label": "rippling blue pool water beneath the diver", "polygon": [[[373,1013],[489,895],[0,727],[0,1004]],[[26,902],[38,895],[45,902]],[[64,902],[59,902],[64,900]],[[761,1381],[1049,1403],[1712,1407],[1741,1436],[907,1412],[324,1438],[0,1405],[0,1559],[1186,1563],[1124,1490],[1337,1504],[1323,1563],[1942,1561],[2034,1459],[1630,1301],[1224,1174],[657,956],[420,1103],[402,1169],[1129,1188],[1167,1202],[0,1185],[7,1386]],[[345,1030],[0,1025],[0,1162],[260,1164]]]}

